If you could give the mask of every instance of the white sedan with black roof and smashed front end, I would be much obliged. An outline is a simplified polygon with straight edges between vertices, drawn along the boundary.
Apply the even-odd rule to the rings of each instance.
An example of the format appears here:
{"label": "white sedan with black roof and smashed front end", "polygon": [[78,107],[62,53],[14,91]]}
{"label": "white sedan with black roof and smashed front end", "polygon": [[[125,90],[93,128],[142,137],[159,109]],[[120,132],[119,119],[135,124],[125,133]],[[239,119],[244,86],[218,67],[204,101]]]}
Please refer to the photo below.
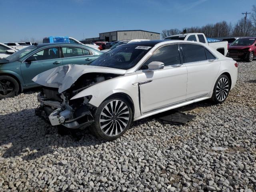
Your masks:
{"label": "white sedan with black roof and smashed front end", "polygon": [[33,81],[50,123],[67,128],[92,124],[113,140],[132,121],[211,99],[224,102],[237,80],[237,63],[208,45],[182,40],[124,44],[89,65],[60,66]]}

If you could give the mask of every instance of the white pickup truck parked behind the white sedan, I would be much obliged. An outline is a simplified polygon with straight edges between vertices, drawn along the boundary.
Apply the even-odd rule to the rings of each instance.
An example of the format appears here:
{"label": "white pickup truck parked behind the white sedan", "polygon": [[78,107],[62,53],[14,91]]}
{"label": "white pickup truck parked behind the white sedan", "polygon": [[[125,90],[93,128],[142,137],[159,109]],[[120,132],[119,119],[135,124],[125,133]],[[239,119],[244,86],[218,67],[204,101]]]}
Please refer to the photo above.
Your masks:
{"label": "white pickup truck parked behind the white sedan", "polygon": [[201,43],[206,43],[210,47],[216,49],[218,52],[224,56],[228,53],[228,41],[219,41],[219,42],[210,42],[207,40],[206,36],[203,33],[186,33],[168,36],[164,39],[168,40],[184,40],[184,41],[196,41]]}

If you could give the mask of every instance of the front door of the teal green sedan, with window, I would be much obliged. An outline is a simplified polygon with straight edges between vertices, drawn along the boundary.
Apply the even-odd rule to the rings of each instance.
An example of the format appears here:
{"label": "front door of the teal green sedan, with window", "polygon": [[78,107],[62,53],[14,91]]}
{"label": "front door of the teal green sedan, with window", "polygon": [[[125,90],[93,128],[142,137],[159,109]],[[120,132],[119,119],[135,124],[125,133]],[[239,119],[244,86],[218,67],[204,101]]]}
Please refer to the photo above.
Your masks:
{"label": "front door of the teal green sedan, with window", "polygon": [[21,73],[26,86],[37,85],[32,78],[46,70],[62,65],[62,58],[60,58],[57,46],[44,48],[30,56],[34,56],[36,61],[26,62],[24,60],[21,63]]}

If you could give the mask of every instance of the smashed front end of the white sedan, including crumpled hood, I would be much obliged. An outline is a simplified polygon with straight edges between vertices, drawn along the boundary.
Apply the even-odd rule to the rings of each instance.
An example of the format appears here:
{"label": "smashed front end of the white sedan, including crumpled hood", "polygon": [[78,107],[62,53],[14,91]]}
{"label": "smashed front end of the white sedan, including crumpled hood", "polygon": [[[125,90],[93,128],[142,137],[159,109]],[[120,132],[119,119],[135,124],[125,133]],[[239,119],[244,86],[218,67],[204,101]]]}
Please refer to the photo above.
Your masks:
{"label": "smashed front end of the white sedan, including crumpled hood", "polygon": [[[86,70],[87,69],[87,70]],[[92,72],[92,71],[98,72]],[[85,128],[94,122],[96,107],[89,104],[92,95],[72,99],[82,90],[94,84],[122,75],[101,72],[102,68],[66,65],[48,70],[36,76],[33,81],[42,85],[37,98],[40,107],[36,114],[48,116],[52,126],[63,125],[67,128]],[[86,71],[90,71],[86,73]],[[47,119],[47,118],[46,118]]]}

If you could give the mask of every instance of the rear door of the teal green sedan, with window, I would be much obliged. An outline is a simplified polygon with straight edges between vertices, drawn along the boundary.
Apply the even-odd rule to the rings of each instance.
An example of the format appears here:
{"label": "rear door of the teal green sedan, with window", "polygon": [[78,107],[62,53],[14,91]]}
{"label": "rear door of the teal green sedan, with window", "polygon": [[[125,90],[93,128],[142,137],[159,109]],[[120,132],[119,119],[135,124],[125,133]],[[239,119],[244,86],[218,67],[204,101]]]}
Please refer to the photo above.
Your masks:
{"label": "rear door of the teal green sedan, with window", "polygon": [[61,46],[63,65],[85,65],[92,62],[95,57],[93,52],[80,46]]}

